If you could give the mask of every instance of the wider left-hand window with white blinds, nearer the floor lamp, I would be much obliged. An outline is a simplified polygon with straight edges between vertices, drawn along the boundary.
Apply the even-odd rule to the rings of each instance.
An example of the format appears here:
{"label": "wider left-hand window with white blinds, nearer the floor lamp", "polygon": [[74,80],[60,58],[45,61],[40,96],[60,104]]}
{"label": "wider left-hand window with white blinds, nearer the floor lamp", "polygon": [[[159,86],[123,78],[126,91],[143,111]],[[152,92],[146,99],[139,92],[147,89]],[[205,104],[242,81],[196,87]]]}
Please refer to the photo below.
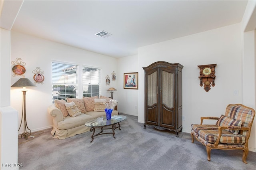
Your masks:
{"label": "wider left-hand window with white blinds, nearer the floor lamp", "polygon": [[78,97],[78,65],[52,62],[52,103]]}

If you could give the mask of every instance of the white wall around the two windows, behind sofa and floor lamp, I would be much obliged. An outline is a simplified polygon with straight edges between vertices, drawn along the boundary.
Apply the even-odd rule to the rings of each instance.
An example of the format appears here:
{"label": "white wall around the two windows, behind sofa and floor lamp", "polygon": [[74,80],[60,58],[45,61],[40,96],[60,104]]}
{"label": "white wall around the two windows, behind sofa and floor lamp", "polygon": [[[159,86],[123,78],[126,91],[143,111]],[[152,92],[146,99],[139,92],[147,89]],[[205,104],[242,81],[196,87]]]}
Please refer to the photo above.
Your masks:
{"label": "white wall around the two windows, behind sofa and floor lamp", "polygon": [[[47,113],[47,107],[51,105],[51,62],[64,61],[68,63],[77,63],[79,66],[88,65],[102,68],[102,95],[110,96],[106,91],[109,87],[116,87],[117,81],[111,81],[106,86],[106,75],[112,71],[117,73],[117,60],[112,57],[93,53],[90,51],[70,47],[60,43],[50,42],[34,36],[28,36],[18,32],[11,32],[11,61],[16,58],[22,58],[26,63],[25,78],[34,82],[32,73],[36,67],[44,71],[44,84],[36,84],[36,87],[27,88],[26,92],[26,116],[28,127],[32,131],[42,130],[52,127],[52,117]],[[11,65],[11,68],[13,65]],[[13,77],[11,73],[11,85],[20,77]],[[112,80],[112,79],[110,79]],[[81,87],[82,85],[80,85]],[[22,92],[19,88],[11,88],[11,106],[18,110],[19,122],[22,115]],[[115,91],[114,93],[116,93]],[[118,97],[118,96],[116,96]],[[79,98],[82,98],[80,96]],[[118,100],[118,98],[117,98]],[[19,131],[22,132],[23,128]]]}

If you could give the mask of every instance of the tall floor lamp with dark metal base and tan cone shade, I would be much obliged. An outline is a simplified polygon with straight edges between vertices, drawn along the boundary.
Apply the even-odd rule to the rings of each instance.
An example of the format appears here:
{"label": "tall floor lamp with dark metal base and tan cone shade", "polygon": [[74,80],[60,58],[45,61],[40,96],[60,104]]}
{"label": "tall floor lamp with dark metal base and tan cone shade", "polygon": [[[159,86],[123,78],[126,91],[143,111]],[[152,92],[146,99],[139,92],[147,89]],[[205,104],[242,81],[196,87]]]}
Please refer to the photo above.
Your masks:
{"label": "tall floor lamp with dark metal base and tan cone shade", "polygon": [[[27,132],[27,119],[26,119],[26,87],[34,87],[36,85],[34,85],[29,79],[27,78],[20,78],[18,79],[18,81],[16,81],[16,83],[14,83],[11,87],[23,87],[23,100],[22,100],[22,118],[21,118],[21,122],[20,122],[20,127],[22,124],[22,119],[24,118],[23,121],[23,133],[20,134],[21,138],[22,136],[24,136],[25,139],[28,139],[28,132]],[[18,131],[20,130],[20,127],[18,129]],[[31,130],[28,128],[29,130],[29,135],[31,134]]]}

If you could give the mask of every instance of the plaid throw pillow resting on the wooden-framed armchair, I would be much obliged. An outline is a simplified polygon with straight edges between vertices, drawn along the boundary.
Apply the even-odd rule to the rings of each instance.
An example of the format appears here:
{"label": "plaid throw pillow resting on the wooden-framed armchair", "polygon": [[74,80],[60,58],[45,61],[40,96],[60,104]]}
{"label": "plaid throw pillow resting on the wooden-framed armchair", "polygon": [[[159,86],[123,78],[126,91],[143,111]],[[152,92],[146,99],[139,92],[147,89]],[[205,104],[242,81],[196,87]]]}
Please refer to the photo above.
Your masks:
{"label": "plaid throw pillow resting on the wooden-framed armchair", "polygon": [[[242,121],[238,121],[230,117],[221,115],[218,121],[216,122],[216,125],[222,126],[222,127],[241,127],[242,123],[243,123]],[[231,129],[225,129],[225,130],[228,130],[233,134],[238,134],[239,132],[239,130],[231,130]]]}

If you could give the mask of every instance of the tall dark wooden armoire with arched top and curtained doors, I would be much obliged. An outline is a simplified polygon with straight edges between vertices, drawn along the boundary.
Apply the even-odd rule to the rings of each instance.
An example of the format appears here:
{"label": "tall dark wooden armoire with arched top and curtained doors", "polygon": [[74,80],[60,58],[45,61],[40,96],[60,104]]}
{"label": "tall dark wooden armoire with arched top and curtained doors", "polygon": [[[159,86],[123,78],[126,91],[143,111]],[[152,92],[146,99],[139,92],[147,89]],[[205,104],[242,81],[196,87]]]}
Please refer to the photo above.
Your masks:
{"label": "tall dark wooden armoire with arched top and curtained doors", "polygon": [[145,123],[159,130],[182,131],[182,68],[157,61],[145,71]]}

